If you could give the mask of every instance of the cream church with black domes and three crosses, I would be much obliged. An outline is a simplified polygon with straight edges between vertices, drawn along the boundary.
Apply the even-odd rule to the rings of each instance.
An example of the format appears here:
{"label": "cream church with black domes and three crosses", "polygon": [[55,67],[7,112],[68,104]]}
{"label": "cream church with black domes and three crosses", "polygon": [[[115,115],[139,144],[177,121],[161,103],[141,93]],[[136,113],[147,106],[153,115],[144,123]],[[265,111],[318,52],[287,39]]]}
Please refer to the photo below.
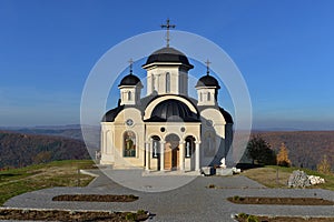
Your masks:
{"label": "cream church with black domes and three crosses", "polygon": [[188,72],[194,68],[183,52],[167,46],[153,52],[145,64],[143,82],[132,73],[119,82],[118,105],[101,121],[100,164],[115,169],[146,171],[196,171],[220,165],[232,144],[233,119],[219,107],[220,85],[209,73],[195,85],[197,98],[188,95]]}

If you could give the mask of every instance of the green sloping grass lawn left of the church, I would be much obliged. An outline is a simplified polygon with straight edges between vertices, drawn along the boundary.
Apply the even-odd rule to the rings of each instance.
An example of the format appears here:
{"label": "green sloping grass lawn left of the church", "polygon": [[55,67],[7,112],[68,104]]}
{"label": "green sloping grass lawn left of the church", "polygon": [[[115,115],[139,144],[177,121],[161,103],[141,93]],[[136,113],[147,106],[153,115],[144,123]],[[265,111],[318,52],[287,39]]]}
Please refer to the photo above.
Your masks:
{"label": "green sloping grass lawn left of the church", "polygon": [[94,178],[79,174],[78,170],[92,168],[91,160],[68,160],[0,171],[0,205],[29,191],[52,186],[86,186]]}

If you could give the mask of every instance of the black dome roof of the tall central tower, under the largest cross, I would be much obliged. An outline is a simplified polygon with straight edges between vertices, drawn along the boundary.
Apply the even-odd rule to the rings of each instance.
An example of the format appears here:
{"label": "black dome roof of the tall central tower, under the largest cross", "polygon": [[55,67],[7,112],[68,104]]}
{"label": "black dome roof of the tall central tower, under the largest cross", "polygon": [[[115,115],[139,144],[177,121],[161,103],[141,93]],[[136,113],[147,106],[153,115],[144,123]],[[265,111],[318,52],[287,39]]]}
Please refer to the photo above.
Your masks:
{"label": "black dome roof of the tall central tower, under the largest cross", "polygon": [[185,65],[188,65],[189,69],[194,68],[184,53],[170,47],[165,47],[151,53],[144,65],[154,62],[180,62]]}

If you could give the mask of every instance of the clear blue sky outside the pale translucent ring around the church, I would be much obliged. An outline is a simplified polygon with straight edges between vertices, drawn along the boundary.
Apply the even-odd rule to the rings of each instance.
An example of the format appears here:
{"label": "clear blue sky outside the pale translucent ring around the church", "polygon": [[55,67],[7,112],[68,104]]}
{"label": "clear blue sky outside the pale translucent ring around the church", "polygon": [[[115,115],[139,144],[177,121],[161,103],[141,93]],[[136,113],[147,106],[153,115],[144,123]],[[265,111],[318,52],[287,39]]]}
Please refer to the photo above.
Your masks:
{"label": "clear blue sky outside the pale translucent ring around the church", "polygon": [[333,130],[333,9],[330,0],[1,0],[0,125],[79,123],[81,91],[98,59],[169,17],[234,60],[254,128]]}

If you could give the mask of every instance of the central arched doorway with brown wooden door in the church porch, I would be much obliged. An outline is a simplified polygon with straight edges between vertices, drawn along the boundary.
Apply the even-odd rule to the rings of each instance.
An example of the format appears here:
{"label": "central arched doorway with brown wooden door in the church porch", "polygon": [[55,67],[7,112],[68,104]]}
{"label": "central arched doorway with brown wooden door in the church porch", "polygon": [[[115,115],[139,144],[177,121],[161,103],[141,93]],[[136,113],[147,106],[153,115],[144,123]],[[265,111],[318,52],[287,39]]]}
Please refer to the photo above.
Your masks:
{"label": "central arched doorway with brown wooden door in the church porch", "polygon": [[179,168],[179,138],[176,134],[169,134],[166,137],[165,141],[165,170],[177,170]]}

